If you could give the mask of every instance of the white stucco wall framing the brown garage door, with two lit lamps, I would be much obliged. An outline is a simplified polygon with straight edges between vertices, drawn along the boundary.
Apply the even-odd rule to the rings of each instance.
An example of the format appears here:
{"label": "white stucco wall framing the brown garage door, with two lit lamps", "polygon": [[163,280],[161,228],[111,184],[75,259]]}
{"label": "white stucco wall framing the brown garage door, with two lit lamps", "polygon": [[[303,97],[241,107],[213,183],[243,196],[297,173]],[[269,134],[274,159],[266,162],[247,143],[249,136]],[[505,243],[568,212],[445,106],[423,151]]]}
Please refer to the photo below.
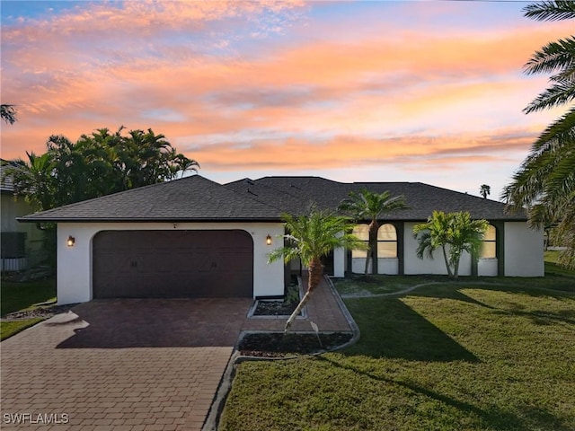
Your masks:
{"label": "white stucco wall framing the brown garage door, with two lit lamps", "polygon": [[[175,226],[175,227],[174,227]],[[235,230],[252,235],[253,295],[275,296],[284,293],[284,263],[268,264],[268,255],[278,247],[277,236],[284,233],[280,223],[60,223],[57,225],[57,302],[84,303],[92,300],[92,241],[101,231],[129,230]],[[266,236],[274,239],[266,244]],[[75,237],[74,247],[67,247],[68,236]]]}

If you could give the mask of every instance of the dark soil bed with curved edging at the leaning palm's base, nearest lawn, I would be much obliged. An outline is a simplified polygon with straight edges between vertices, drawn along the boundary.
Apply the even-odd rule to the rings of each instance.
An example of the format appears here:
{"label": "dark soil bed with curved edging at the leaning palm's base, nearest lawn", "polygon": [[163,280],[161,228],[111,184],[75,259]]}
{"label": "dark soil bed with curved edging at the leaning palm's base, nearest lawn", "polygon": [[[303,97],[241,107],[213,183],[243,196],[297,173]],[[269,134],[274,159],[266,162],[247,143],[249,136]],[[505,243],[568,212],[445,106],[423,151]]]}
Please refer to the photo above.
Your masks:
{"label": "dark soil bed with curved edging at the leaning palm's base, nearest lawn", "polygon": [[244,356],[281,357],[290,355],[309,355],[341,346],[351,339],[352,334],[333,332],[330,334],[265,332],[246,334],[238,350]]}

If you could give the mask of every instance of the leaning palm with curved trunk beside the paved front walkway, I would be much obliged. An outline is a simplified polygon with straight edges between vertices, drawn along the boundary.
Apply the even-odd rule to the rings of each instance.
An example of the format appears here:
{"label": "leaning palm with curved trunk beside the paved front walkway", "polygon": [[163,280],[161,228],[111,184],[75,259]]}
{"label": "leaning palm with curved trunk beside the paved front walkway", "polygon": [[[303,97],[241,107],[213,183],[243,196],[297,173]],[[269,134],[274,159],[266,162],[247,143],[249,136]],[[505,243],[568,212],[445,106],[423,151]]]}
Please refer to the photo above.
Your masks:
{"label": "leaning palm with curved trunk beside the paved front walkway", "polygon": [[286,322],[285,331],[288,332],[297,314],[322,280],[322,257],[334,249],[365,249],[366,246],[351,233],[352,226],[347,217],[333,216],[312,208],[308,216],[286,214],[282,218],[286,223],[285,245],[271,251],[268,263],[281,258],[286,263],[292,259],[301,259],[309,271],[307,291]]}

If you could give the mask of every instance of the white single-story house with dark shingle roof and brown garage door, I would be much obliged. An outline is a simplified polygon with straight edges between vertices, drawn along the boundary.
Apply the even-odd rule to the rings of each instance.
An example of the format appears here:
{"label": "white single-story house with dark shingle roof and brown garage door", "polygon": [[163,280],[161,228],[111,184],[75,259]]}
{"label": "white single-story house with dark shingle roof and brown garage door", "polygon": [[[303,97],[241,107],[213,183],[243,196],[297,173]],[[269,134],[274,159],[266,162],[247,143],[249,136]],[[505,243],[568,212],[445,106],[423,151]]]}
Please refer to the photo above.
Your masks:
{"label": "white single-story house with dark shingle roof and brown garage door", "polygon": [[[349,191],[389,190],[410,207],[380,220],[378,272],[445,274],[444,261],[418,259],[414,224],[433,210],[469,211],[490,222],[482,256],[464,256],[460,275],[544,276],[543,233],[504,204],[420,182],[342,183],[319,177],[264,177],[218,184],[200,175],[131,189],[20,218],[57,223],[58,303],[111,297],[283,295],[297,263],[268,263],[284,233],[281,215],[314,203],[336,208]],[[367,222],[368,223],[368,222]],[[359,224],[356,232],[366,235]],[[367,240],[367,236],[365,238]],[[365,253],[365,252],[364,252]],[[334,277],[363,272],[365,254],[336,250]]]}

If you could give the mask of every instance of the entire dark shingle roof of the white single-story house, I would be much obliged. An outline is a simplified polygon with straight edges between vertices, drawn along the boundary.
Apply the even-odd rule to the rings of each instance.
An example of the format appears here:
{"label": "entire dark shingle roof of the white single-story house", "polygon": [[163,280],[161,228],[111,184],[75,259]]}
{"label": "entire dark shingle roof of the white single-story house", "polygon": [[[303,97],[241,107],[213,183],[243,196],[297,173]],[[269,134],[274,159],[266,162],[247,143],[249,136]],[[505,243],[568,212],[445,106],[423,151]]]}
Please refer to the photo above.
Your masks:
{"label": "entire dark shingle roof of the white single-story house", "polygon": [[320,177],[264,177],[225,185],[200,175],[131,189],[24,216],[30,222],[85,221],[279,221],[282,213],[305,214],[314,203],[336,208],[349,191],[389,190],[403,195],[410,207],[385,214],[381,220],[424,221],[433,210],[469,211],[473,218],[526,220],[523,213],[506,214],[505,205],[420,182],[343,183]]}

